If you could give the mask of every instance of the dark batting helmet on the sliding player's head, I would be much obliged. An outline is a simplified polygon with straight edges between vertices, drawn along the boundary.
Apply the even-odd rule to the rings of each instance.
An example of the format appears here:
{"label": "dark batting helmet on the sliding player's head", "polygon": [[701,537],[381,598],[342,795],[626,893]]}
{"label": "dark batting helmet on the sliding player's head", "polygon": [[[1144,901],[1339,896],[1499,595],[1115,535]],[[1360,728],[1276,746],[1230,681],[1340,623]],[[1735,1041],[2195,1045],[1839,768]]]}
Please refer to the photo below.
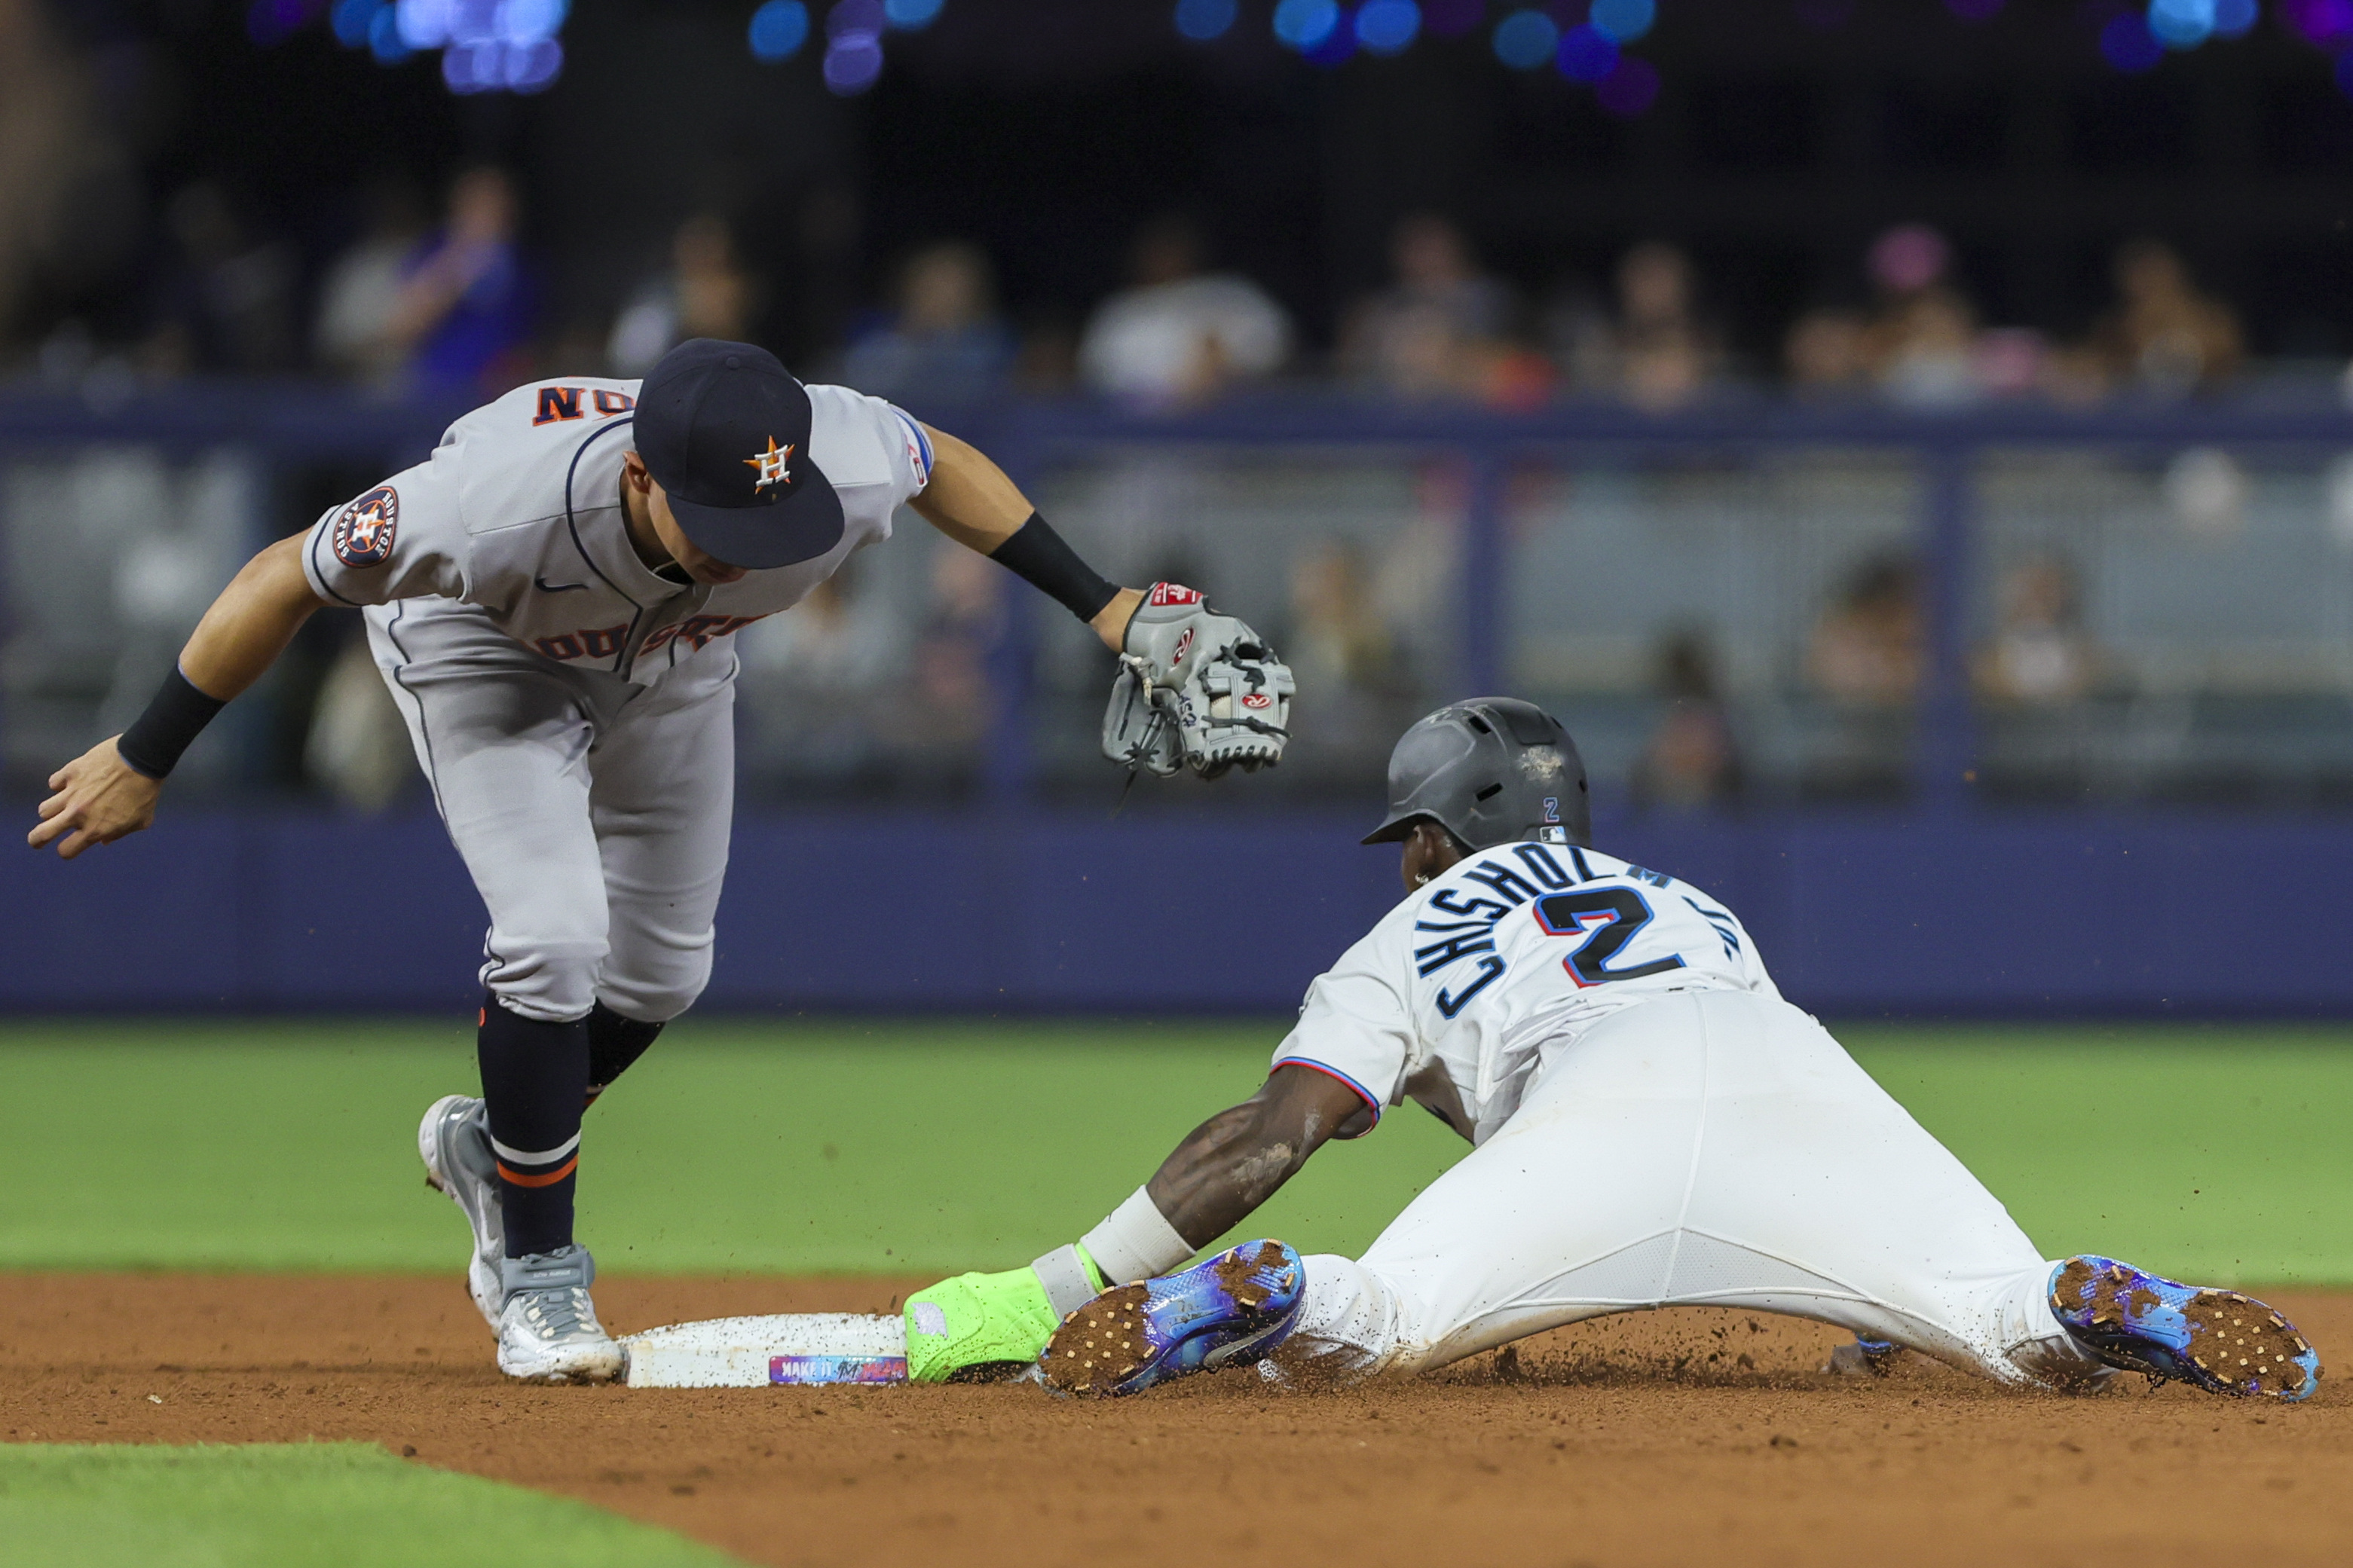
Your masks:
{"label": "dark batting helmet on the sliding player's head", "polygon": [[1511,696],[1449,703],[1388,752],[1388,818],[1367,844],[1395,844],[1428,818],[1471,849],[1537,839],[1593,844],[1586,762],[1560,719]]}

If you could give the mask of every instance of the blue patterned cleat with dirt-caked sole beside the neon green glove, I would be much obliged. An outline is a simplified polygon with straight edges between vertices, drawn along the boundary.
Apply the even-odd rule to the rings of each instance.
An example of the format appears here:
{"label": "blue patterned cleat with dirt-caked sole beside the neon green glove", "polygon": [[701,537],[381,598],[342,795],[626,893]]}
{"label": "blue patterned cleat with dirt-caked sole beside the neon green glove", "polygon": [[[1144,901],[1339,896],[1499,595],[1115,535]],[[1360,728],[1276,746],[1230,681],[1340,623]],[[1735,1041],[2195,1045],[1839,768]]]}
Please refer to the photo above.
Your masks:
{"label": "blue patterned cleat with dirt-caked sole beside the neon green glove", "polygon": [[1155,1382],[1249,1366],[1299,1319],[1306,1269],[1280,1241],[1245,1241],[1181,1274],[1104,1291],[1038,1356],[1064,1394],[1141,1394]]}

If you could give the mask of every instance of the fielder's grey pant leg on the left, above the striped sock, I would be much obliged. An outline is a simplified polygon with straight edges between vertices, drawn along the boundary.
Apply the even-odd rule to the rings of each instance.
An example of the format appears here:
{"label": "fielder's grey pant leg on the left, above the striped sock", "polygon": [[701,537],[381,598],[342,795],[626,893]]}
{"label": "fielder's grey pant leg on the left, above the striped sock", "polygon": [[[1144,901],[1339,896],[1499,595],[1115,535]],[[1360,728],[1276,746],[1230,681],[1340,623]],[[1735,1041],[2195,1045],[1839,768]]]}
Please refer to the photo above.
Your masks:
{"label": "fielder's grey pant leg on the left, above the striped sock", "polygon": [[595,1004],[605,961],[605,867],[588,820],[593,703],[494,628],[367,616],[386,686],[473,886],[489,907],[482,985],[525,1018],[565,1023]]}

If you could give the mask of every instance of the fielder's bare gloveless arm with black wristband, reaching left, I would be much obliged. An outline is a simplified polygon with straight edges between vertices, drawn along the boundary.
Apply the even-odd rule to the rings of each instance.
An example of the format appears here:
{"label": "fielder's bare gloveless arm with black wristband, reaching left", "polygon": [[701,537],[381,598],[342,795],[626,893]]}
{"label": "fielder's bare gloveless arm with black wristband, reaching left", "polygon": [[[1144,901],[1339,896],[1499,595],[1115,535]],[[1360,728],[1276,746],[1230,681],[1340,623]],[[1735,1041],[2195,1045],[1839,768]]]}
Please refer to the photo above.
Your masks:
{"label": "fielder's bare gloveless arm with black wristband, reaching left", "polygon": [[322,604],[301,574],[304,538],[280,538],[245,562],[136,724],[49,773],[54,795],[40,802],[40,825],[26,844],[54,842],[71,860],[155,820],[155,797],[179,755],[228,698],[261,679]]}

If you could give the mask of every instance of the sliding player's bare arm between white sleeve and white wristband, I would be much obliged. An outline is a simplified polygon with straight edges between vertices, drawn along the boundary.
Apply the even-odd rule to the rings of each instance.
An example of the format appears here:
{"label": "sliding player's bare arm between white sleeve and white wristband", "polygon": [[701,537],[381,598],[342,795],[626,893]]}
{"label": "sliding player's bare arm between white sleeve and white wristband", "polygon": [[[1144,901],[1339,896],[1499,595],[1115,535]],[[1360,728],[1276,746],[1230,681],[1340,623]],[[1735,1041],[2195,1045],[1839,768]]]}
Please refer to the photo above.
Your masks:
{"label": "sliding player's bare arm between white sleeve and white wristband", "polygon": [[1144,1192],[1186,1244],[1202,1248],[1275,1197],[1308,1154],[1369,1119],[1353,1088],[1287,1063],[1259,1093],[1186,1133]]}

